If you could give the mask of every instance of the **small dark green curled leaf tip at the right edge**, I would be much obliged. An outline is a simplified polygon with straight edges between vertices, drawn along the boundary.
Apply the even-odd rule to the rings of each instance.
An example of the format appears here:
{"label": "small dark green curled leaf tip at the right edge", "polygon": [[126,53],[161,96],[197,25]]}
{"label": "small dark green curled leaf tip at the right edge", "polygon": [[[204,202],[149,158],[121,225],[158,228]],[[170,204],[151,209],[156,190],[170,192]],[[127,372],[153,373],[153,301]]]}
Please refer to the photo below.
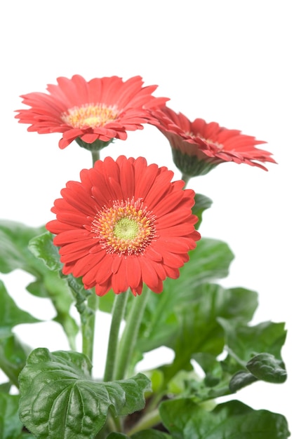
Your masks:
{"label": "small dark green curled leaf tip at the right edge", "polygon": [[259,353],[248,361],[246,367],[255,377],[269,383],[281,384],[287,379],[283,361],[270,353]]}

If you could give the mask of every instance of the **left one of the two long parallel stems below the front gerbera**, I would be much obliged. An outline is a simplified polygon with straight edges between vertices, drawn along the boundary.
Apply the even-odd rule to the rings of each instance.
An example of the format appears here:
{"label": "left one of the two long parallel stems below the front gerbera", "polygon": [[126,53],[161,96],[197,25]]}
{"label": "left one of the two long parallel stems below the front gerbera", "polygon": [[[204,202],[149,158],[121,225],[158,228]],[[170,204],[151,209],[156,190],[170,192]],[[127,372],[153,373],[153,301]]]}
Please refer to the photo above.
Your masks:
{"label": "left one of the two long parallel stems below the front gerbera", "polygon": [[128,301],[128,292],[121,292],[116,295],[112,308],[112,323],[109,331],[109,340],[107,348],[107,358],[105,365],[104,381],[112,381],[114,379],[114,366],[117,355],[117,347],[119,344],[119,328],[126,309]]}

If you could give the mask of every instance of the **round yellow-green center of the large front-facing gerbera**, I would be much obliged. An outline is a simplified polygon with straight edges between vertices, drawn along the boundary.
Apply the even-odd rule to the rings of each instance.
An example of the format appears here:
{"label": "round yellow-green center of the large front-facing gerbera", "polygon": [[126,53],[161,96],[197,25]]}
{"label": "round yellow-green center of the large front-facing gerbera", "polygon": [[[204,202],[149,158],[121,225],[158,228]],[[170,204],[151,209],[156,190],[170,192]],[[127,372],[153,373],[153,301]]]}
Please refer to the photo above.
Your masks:
{"label": "round yellow-green center of the large front-facing gerbera", "polygon": [[95,215],[92,231],[108,253],[139,254],[156,237],[155,216],[140,199],[114,201]]}

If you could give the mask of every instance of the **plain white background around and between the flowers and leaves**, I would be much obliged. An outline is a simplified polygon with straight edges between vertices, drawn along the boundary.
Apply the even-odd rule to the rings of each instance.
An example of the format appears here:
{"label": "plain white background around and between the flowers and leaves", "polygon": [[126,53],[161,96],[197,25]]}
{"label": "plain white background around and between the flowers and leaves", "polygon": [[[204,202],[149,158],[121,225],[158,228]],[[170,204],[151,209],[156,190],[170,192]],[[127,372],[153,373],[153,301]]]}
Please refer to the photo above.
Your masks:
{"label": "plain white background around and between the flowers and leaves", "polygon": [[[39,226],[60,189],[91,167],[88,151],[60,135],[27,133],[14,110],[19,95],[44,92],[58,76],[140,75],[157,84],[157,96],[189,119],[201,117],[266,140],[279,163],[269,172],[225,163],[189,186],[213,199],[201,234],[229,243],[235,260],[228,287],[259,293],[253,323],[286,322],[283,360],[288,381],[257,383],[236,397],[255,409],[286,415],[294,431],[293,404],[293,1],[11,1],[1,2],[0,217]],[[152,126],[130,133],[102,151],[114,158],[146,156],[173,165],[169,144]],[[1,276],[15,301],[34,316],[54,316],[50,304],[25,292],[29,276]],[[98,319],[95,370],[102,370],[108,320]],[[33,347],[67,349],[58,325],[40,323],[16,330]],[[170,358],[163,351],[161,360]]]}

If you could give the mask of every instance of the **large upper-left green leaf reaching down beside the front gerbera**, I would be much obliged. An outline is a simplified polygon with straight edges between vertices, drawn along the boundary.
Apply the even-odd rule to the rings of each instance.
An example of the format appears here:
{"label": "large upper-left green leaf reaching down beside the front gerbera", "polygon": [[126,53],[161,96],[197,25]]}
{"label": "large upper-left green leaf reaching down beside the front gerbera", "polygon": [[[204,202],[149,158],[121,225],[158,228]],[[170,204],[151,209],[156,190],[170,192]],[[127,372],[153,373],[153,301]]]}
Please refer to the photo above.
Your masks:
{"label": "large upper-left green leaf reaching down beside the front gerbera", "polygon": [[51,234],[44,230],[44,227],[0,221],[0,271],[9,273],[22,269],[35,276],[36,280],[27,285],[27,290],[37,297],[51,299],[57,313],[54,320],[62,325],[74,349],[78,327],[69,314],[73,297],[65,279],[60,278],[58,271],[52,271],[58,267],[58,251]]}

